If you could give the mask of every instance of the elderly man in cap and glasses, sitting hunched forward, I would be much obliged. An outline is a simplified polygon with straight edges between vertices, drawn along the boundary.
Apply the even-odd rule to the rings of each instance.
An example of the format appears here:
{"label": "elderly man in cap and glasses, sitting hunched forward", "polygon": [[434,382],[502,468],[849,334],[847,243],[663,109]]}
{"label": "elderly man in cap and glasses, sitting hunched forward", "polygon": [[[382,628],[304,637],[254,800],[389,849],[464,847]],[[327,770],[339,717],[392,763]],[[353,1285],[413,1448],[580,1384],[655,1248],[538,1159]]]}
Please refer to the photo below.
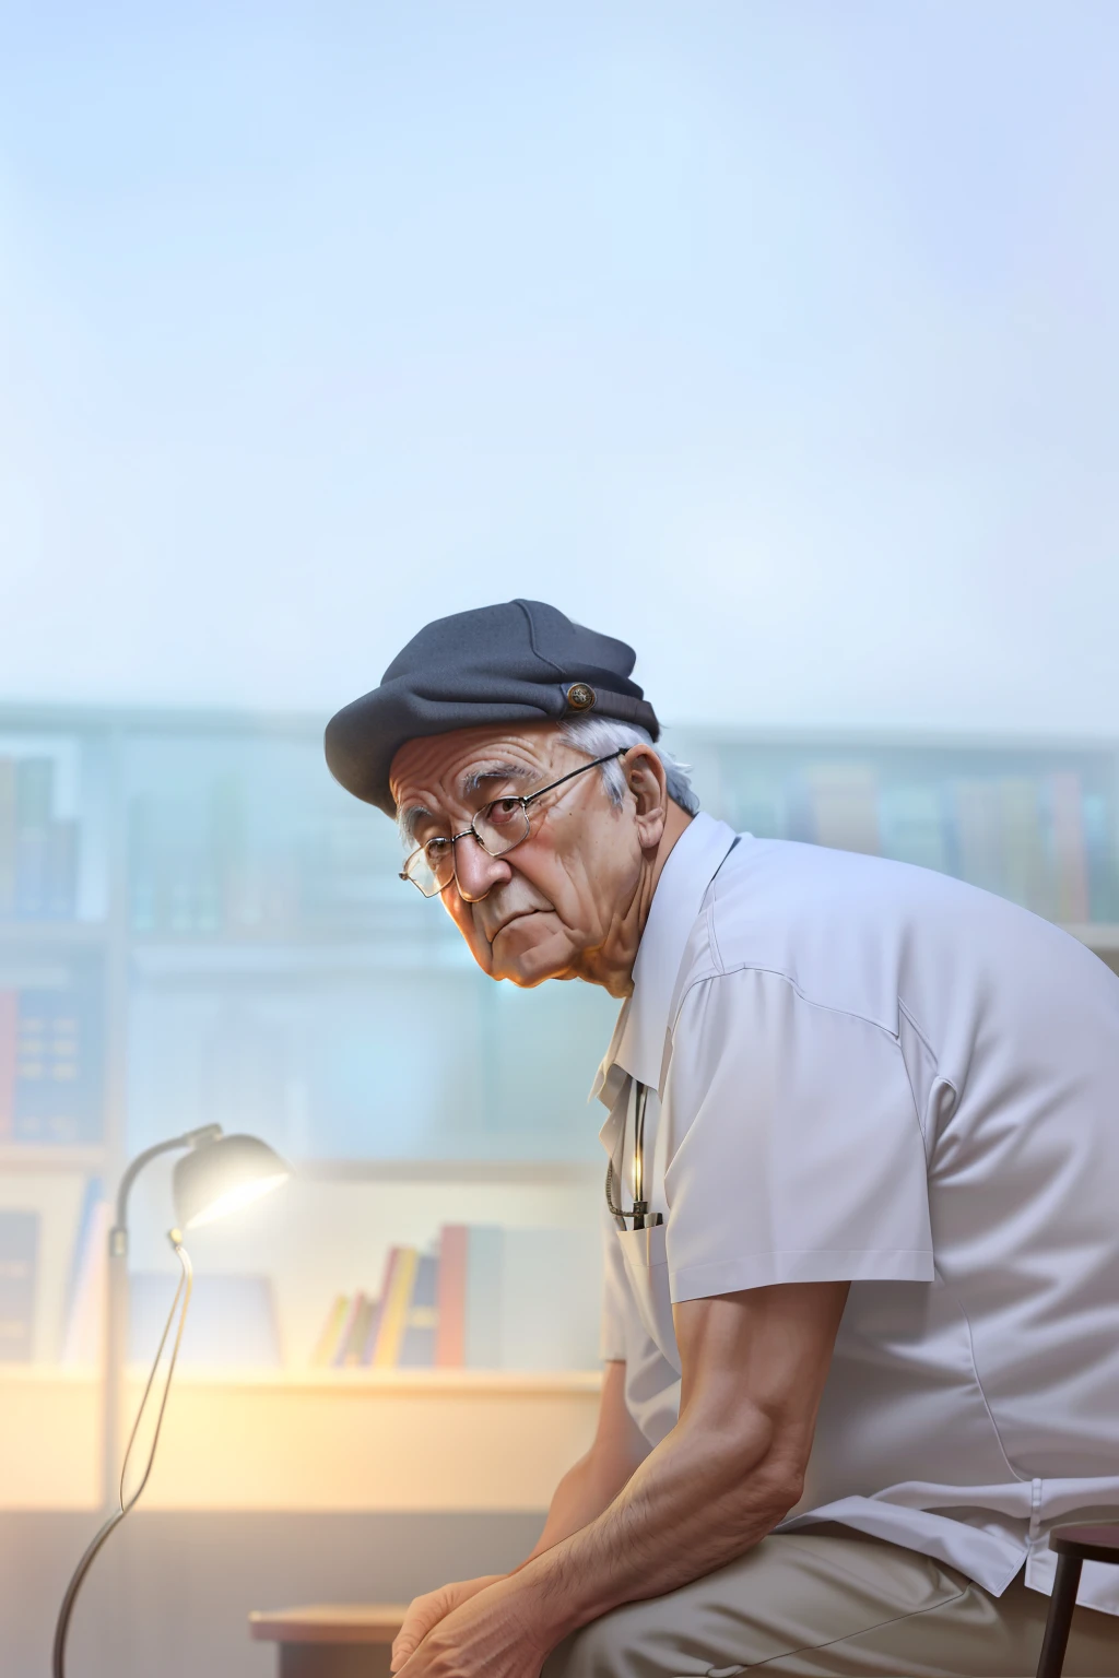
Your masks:
{"label": "elderly man in cap and glasses, sitting hunched forward", "polygon": [[[594,1445],[394,1670],[1030,1673],[1049,1527],[1119,1514],[1119,980],[958,881],[698,814],[632,663],[512,601],[327,730],[485,973],[624,998]],[[1119,1673],[1109,1569],[1079,1601],[1065,1671]]]}

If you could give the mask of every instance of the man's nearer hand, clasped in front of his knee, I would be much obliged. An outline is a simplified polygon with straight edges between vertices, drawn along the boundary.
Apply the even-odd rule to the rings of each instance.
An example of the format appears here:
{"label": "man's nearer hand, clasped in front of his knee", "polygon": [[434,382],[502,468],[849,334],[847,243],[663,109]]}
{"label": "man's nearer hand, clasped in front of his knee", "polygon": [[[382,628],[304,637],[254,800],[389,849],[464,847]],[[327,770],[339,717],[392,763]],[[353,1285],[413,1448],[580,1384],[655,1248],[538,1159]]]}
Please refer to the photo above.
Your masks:
{"label": "man's nearer hand, clasped in front of his knee", "polygon": [[[478,1579],[470,1584],[481,1584],[483,1589],[440,1619],[403,1665],[398,1665],[393,1644],[393,1671],[399,1678],[540,1678],[555,1639],[542,1631],[539,1621],[533,1623],[528,1592],[517,1576],[498,1574],[493,1584]],[[463,1586],[445,1589],[461,1591]],[[441,1594],[433,1592],[436,1597]],[[406,1629],[401,1629],[401,1638]]]}

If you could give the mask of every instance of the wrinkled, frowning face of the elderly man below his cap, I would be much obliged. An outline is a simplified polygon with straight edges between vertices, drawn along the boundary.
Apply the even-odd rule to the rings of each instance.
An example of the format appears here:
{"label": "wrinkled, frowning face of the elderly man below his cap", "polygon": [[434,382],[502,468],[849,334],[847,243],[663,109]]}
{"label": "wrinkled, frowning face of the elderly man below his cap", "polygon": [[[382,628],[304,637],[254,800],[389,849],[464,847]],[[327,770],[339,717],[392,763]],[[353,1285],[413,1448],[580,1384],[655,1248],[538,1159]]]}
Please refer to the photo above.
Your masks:
{"label": "wrinkled, frowning face of the elderly man below his cap", "polygon": [[[528,795],[586,762],[552,723],[463,728],[409,740],[389,784],[421,846],[463,832],[492,799]],[[624,920],[643,861],[632,799],[612,805],[599,770],[547,792],[528,822],[505,856],[460,839],[456,878],[443,893],[478,967],[515,985],[580,977]]]}

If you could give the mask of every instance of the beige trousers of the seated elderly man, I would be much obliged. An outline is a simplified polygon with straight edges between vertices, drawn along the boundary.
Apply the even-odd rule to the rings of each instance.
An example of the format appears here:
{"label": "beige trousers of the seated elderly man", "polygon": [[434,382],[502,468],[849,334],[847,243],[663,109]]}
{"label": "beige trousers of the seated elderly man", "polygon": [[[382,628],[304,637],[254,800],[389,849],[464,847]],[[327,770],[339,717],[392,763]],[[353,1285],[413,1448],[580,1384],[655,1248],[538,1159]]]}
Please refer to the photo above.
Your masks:
{"label": "beige trousers of the seated elderly man", "polygon": [[[627,1602],[559,1644],[542,1678],[1028,1678],[1049,1597],[1000,1597],[849,1527],[773,1534],[668,1596]],[[1077,1608],[1067,1678],[1119,1678],[1119,1618]]]}

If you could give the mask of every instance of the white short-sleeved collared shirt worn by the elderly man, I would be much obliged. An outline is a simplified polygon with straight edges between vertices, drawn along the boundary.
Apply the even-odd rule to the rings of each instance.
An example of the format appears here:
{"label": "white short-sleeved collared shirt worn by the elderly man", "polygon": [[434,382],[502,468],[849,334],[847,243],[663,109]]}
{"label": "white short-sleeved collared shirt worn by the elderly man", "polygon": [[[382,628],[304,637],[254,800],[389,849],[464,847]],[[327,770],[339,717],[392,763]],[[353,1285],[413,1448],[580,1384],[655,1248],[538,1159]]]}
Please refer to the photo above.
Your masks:
{"label": "white short-sleeved collared shirt worn by the elderly man", "polygon": [[[783,1525],[1049,1591],[1049,1529],[1119,1519],[1119,978],[960,881],[698,816],[594,1089],[626,1185],[634,1081],[664,1223],[604,1210],[602,1354],[646,1438],[673,1302],[851,1280]],[[1119,1571],[1079,1599],[1119,1614]]]}

